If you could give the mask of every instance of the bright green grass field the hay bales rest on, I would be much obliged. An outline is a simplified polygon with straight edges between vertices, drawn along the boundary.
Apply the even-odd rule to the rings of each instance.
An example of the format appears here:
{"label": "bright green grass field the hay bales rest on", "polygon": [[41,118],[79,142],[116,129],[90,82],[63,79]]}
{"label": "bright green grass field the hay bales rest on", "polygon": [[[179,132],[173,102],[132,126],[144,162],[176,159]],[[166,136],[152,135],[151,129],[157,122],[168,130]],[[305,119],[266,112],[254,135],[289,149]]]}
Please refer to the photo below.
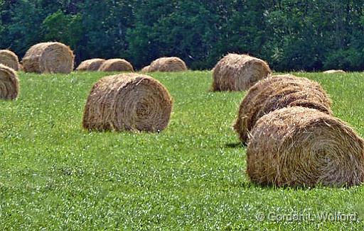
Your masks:
{"label": "bright green grass field the hay bales rest on", "polygon": [[[162,133],[82,130],[87,95],[106,75],[20,73],[18,100],[0,101],[2,230],[364,230],[364,186],[250,183],[231,129],[245,92],[208,91],[210,72],[150,74],[174,100]],[[335,116],[364,137],[364,74],[296,75],[319,81]],[[311,219],[279,219],[291,214]]]}

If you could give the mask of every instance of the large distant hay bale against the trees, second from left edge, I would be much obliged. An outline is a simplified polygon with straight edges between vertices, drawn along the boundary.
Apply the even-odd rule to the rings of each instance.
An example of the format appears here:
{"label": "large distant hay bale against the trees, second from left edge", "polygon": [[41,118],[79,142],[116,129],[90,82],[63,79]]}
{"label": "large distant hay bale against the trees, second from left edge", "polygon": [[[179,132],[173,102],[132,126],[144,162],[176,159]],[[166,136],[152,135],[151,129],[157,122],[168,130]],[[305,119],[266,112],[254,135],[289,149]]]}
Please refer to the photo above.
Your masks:
{"label": "large distant hay bale against the trees, second from left edge", "polygon": [[69,74],[74,60],[73,51],[62,43],[38,43],[26,52],[23,67],[25,72]]}

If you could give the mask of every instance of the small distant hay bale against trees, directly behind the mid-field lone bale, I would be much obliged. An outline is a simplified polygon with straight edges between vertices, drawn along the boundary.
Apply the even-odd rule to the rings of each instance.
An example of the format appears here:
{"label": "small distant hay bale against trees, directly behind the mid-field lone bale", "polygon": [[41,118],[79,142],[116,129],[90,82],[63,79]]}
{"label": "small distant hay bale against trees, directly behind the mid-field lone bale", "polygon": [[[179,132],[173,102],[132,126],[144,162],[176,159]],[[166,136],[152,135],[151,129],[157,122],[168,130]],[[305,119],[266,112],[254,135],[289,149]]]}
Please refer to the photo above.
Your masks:
{"label": "small distant hay bale against trees, directly behind the mid-field lone bale", "polygon": [[151,62],[149,72],[184,72],[186,63],[179,57],[161,57]]}

